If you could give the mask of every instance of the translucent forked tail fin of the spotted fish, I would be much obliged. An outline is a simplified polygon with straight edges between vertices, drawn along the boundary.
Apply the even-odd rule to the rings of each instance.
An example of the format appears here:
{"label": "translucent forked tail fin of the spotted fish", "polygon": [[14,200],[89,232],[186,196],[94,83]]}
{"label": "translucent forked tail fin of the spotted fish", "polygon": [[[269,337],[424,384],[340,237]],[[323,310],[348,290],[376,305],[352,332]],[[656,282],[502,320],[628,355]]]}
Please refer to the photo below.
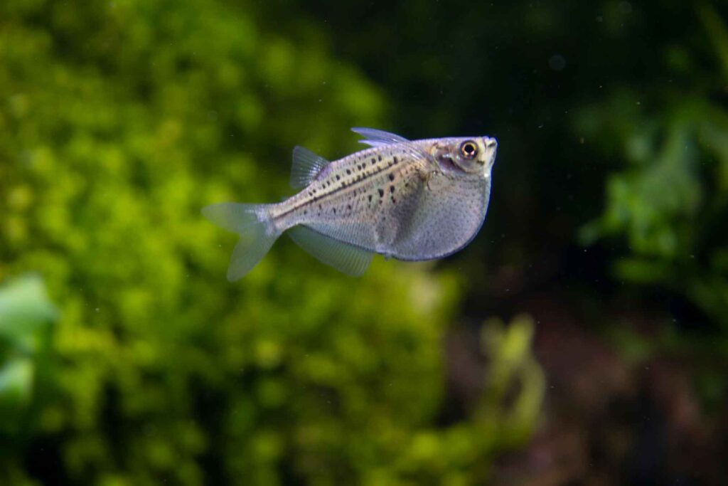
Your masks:
{"label": "translucent forked tail fin of the spotted fish", "polygon": [[202,214],[219,227],[240,235],[232,251],[227,278],[236,281],[250,272],[280,236],[266,204],[220,203],[202,208]]}

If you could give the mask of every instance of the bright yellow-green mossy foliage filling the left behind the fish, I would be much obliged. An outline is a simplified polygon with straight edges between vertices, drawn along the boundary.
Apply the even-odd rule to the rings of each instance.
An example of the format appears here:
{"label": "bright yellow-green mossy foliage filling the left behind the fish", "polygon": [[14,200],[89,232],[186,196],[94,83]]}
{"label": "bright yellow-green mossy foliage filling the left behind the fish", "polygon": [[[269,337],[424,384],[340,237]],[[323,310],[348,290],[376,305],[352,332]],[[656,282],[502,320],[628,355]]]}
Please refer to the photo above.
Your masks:
{"label": "bright yellow-green mossy foliage filling the left behind the fish", "polygon": [[352,280],[282,241],[226,282],[234,235],[199,208],[276,200],[290,147],[343,154],[385,114],[315,28],[270,21],[247,2],[0,4],[0,278],[40,271],[61,311],[54,393],[0,481],[472,484],[533,429],[523,319],[486,340],[503,348],[480,412],[435,425],[452,272]]}

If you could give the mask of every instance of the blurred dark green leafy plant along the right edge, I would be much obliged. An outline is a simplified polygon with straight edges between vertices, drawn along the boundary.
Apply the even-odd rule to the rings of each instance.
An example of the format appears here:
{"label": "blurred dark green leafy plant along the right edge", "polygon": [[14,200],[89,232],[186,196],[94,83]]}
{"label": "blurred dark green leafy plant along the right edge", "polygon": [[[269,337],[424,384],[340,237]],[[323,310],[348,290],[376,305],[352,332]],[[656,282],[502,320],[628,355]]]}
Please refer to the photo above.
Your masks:
{"label": "blurred dark green leafy plant along the right edge", "polygon": [[[682,326],[708,329],[679,332],[676,317],[650,339],[628,329],[608,334],[634,361],[672,353],[695,362],[695,386],[706,409],[715,410],[728,394],[728,380],[715,367],[728,359],[728,110],[712,98],[728,82],[728,26],[708,5],[697,8],[697,17],[717,69],[673,47],[665,58],[674,79],[650,95],[620,90],[579,114],[580,133],[629,164],[609,176],[604,213],[580,237],[585,245],[619,242],[615,278],[648,294],[660,289],[673,301],[670,312],[683,309]],[[681,86],[696,74],[703,82],[687,93]],[[686,315],[685,308],[697,312]]]}

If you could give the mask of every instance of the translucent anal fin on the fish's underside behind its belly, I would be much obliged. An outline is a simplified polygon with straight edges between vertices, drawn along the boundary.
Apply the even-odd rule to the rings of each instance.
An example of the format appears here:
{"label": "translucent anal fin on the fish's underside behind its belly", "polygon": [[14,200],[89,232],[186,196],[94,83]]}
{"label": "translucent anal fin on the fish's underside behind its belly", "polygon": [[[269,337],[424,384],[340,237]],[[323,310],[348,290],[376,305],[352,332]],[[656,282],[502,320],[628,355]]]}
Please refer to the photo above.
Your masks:
{"label": "translucent anal fin on the fish's underside behind its belly", "polygon": [[320,262],[347,275],[362,275],[374,254],[348,243],[341,243],[309,227],[298,225],[288,230],[290,238]]}

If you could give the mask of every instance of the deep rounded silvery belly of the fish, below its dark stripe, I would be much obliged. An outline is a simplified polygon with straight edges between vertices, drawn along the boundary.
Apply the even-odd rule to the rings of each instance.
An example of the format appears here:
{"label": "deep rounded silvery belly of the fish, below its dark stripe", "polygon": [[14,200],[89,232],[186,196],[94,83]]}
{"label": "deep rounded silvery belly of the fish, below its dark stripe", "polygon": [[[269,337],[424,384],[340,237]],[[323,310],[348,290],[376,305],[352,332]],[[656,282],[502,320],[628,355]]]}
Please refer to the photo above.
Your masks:
{"label": "deep rounded silvery belly of the fish, below its dark stripe", "polygon": [[489,187],[488,181],[386,176],[332,197],[320,209],[314,205],[296,224],[396,259],[434,259],[459,250],[478,232]]}

